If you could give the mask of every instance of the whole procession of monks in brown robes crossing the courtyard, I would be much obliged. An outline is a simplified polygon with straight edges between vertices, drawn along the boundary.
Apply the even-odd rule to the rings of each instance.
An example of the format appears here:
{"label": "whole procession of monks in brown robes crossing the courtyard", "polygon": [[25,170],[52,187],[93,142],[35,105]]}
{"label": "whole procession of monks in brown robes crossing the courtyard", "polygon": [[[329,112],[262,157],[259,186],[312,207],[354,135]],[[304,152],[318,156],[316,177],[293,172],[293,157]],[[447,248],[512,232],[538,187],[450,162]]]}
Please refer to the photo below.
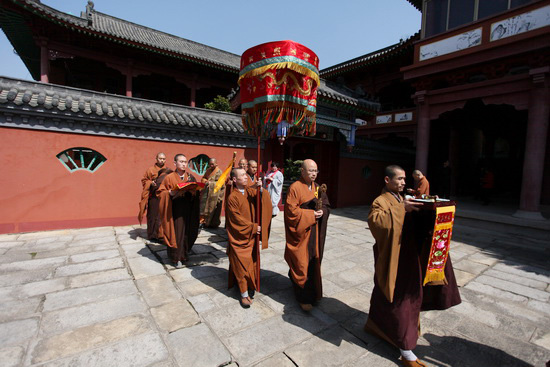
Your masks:
{"label": "whole procession of monks in brown robes crossing the courtyard", "polygon": [[[157,154],[155,164],[142,179],[139,220],[146,212],[149,241],[167,245],[170,259],[180,268],[188,260],[200,229],[220,225],[223,207],[228,286],[237,286],[241,306],[249,308],[259,284],[259,249],[268,247],[267,229],[272,216],[278,213],[273,209],[281,197],[274,186],[278,164],[272,165],[266,175],[270,179],[262,180],[256,175],[258,163],[243,158],[225,178],[212,158],[200,179],[204,187],[198,185],[187,164],[187,157],[177,154],[172,171],[165,167],[166,156]],[[288,188],[284,204],[284,259],[296,300],[305,312],[311,311],[323,295],[321,264],[330,203],[326,186],[315,182],[318,172],[315,161],[304,160],[301,177]],[[282,189],[280,177],[278,187]],[[404,196],[405,171],[396,165],[386,167],[384,189],[371,206],[368,223],[376,241],[375,272],[365,330],[399,348],[404,366],[425,366],[412,352],[420,335],[420,311],[447,309],[461,300],[450,258],[444,282],[436,286],[422,284],[419,246],[410,230],[410,215],[420,206],[414,198],[429,195],[429,183],[418,170],[413,177],[414,188],[406,190],[412,196]],[[276,201],[271,200],[270,192]],[[259,211],[257,202],[261,203]]]}

